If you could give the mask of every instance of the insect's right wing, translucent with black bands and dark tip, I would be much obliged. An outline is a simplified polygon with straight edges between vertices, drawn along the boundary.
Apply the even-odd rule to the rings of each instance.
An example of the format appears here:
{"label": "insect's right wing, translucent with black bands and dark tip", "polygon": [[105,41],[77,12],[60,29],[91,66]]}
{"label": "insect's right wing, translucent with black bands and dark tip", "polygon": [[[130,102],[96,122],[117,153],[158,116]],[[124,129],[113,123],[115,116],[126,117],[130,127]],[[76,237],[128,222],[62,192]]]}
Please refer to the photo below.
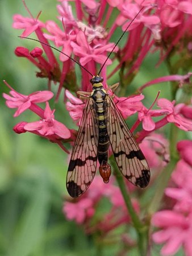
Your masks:
{"label": "insect's right wing, translucent with black bands and dark tip", "polygon": [[105,115],[108,137],[119,170],[133,185],[146,187],[150,180],[148,163],[110,96],[106,97]]}

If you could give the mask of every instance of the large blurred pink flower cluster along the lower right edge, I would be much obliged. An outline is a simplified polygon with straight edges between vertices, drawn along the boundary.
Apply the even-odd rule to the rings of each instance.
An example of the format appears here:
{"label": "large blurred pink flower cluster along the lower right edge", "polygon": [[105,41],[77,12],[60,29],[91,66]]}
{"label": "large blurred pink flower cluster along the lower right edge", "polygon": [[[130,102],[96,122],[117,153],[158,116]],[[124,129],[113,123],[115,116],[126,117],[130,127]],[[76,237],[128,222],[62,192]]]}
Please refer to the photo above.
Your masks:
{"label": "large blurred pink flower cluster along the lower right edge", "polygon": [[192,142],[177,144],[181,160],[172,174],[176,187],[166,188],[165,195],[174,201],[172,210],[161,210],[154,214],[152,224],[160,228],[153,234],[153,241],[165,243],[161,255],[174,255],[181,246],[186,256],[192,255]]}

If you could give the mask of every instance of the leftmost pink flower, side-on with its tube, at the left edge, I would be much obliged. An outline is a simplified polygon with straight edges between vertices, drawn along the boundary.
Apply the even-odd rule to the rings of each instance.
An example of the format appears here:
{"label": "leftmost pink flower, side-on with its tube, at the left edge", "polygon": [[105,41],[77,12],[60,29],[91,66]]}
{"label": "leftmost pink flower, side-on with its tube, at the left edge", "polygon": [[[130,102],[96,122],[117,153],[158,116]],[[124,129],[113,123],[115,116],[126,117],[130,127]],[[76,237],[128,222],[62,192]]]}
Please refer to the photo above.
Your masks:
{"label": "leftmost pink flower, side-on with its tube, at the left edge", "polygon": [[15,92],[15,90],[11,90],[10,95],[3,93],[3,97],[6,99],[7,107],[10,109],[18,109],[14,114],[14,117],[18,117],[18,115],[23,113],[25,110],[30,109],[32,104],[48,101],[53,97],[54,94],[48,90],[44,90],[42,92],[31,93],[27,96]]}

